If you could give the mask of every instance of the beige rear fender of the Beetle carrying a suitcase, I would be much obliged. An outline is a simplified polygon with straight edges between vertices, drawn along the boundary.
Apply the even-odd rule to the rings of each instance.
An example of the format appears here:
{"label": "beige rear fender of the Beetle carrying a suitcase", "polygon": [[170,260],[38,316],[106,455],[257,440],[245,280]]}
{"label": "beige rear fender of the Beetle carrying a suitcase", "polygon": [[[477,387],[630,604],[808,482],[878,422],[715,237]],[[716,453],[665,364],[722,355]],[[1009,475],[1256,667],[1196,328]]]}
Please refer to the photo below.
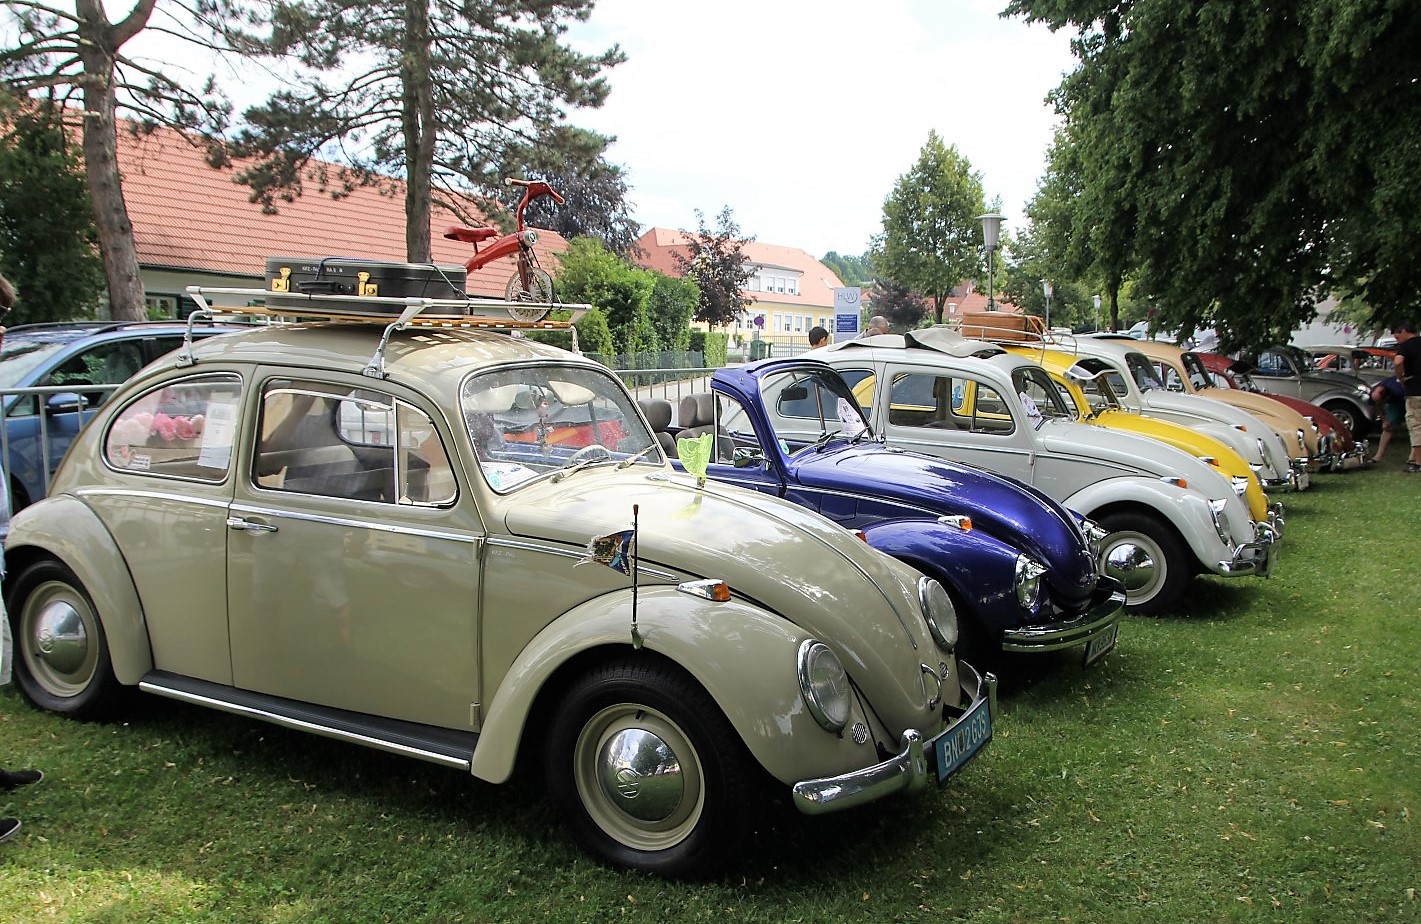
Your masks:
{"label": "beige rear fender of the Beetle carrying a suitcase", "polygon": [[[28,513],[43,505],[43,520]],[[17,577],[26,567],[41,560],[63,563],[84,586],[94,601],[95,616],[108,638],[114,675],[121,684],[132,685],[153,670],[153,650],[148,641],[148,624],[138,587],[128,570],[128,562],[108,527],[94,510],[70,495],[47,498],[16,515],[6,540],[6,574]],[[18,600],[6,600],[16,606]]]}

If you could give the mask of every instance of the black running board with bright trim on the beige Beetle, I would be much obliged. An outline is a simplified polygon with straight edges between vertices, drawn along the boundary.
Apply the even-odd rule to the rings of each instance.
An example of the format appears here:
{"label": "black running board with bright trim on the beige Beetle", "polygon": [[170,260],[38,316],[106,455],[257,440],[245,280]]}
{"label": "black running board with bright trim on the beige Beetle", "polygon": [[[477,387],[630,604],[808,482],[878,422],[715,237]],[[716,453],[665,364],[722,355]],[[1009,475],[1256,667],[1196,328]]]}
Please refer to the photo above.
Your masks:
{"label": "black running board with bright trim on the beige Beetle", "polygon": [[294,728],[406,758],[442,763],[466,773],[470,772],[473,746],[479,741],[476,732],[456,732],[435,725],[317,707],[180,674],[169,674],[168,671],[145,674],[138,681],[138,688],[169,699],[244,715],[283,728]]}

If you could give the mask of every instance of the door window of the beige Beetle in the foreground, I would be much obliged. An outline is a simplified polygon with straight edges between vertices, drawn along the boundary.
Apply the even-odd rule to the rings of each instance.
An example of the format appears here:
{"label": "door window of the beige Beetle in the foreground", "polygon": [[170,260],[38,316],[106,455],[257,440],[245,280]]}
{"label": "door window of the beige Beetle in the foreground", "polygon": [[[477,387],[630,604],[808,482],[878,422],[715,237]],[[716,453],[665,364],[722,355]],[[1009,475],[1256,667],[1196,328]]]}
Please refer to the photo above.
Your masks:
{"label": "door window of the beige Beetle in the foreground", "polygon": [[455,498],[449,456],[419,409],[367,388],[274,380],[261,394],[257,486],[381,503]]}

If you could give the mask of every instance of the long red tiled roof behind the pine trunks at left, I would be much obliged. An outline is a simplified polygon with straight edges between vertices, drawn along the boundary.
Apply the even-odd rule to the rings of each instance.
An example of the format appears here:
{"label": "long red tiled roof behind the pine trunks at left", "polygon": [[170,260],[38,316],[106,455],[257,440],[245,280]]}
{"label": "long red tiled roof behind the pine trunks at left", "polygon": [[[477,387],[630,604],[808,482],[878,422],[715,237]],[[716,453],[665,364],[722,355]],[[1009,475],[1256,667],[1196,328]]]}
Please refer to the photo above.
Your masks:
{"label": "long red tiled roof behind the pine trunks at left", "polygon": [[[173,129],[135,136],[121,128],[118,162],[141,266],[260,279],[269,256],[405,260],[399,181],[341,196],[311,182],[294,202],[279,202],[276,215],[263,215],[260,205],[247,200],[249,188],[233,182],[234,169],[207,166],[200,146]],[[450,212],[435,206],[435,263],[462,266],[470,256],[469,245],[443,237],[443,229],[458,223]],[[536,252],[549,272],[557,267],[553,254],[566,249],[560,235],[539,235]],[[512,257],[482,267],[469,277],[468,290],[502,297],[514,269]]]}

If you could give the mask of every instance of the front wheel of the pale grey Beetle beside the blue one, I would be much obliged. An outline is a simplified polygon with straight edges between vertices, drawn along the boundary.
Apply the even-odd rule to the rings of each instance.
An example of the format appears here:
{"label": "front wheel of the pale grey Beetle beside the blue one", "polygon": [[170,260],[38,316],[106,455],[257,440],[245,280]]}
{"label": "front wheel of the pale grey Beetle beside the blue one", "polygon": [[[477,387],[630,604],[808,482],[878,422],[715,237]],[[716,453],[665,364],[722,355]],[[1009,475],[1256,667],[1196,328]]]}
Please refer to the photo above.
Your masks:
{"label": "front wheel of the pale grey Beetle beside the blue one", "polygon": [[1131,613],[1169,610],[1192,576],[1192,560],[1174,529],[1147,513],[1107,513],[1097,520],[1106,574],[1125,586]]}

